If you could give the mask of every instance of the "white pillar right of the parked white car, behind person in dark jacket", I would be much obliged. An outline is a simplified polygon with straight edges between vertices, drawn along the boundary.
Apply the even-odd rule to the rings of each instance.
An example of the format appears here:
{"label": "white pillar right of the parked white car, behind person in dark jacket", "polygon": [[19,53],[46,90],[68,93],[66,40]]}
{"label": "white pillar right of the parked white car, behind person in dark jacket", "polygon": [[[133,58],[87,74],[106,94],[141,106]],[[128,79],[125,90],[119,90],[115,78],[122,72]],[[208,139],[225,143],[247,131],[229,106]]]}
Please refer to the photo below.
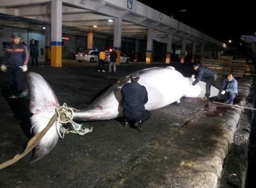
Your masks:
{"label": "white pillar right of the parked white car, behind person in dark jacket", "polygon": [[122,19],[116,18],[114,21],[114,48],[117,52],[117,62],[120,65],[121,60],[121,40],[122,40]]}

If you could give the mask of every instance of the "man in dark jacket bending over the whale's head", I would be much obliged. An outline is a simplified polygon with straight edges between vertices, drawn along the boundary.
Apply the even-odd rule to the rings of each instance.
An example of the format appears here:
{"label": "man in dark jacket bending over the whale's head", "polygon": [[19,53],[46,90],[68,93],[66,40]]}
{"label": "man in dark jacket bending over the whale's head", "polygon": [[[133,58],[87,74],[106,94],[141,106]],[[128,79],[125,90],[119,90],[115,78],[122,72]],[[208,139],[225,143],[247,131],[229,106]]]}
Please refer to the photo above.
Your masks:
{"label": "man in dark jacket bending over the whale's head", "polygon": [[195,85],[203,78],[204,81],[206,81],[206,94],[204,95],[202,100],[209,101],[211,86],[217,79],[217,74],[212,69],[208,68],[205,65],[200,65],[199,63],[195,63],[193,65],[193,68],[195,70],[195,80],[193,81],[192,85]]}

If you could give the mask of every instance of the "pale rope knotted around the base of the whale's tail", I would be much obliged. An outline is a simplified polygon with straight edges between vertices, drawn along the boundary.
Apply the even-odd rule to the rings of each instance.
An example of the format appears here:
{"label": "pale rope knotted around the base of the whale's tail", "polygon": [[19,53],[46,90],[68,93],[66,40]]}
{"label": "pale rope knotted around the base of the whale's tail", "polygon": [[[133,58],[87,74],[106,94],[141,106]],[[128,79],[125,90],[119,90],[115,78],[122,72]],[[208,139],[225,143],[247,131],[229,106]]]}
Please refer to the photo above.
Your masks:
{"label": "pale rope knotted around the base of the whale's tail", "polygon": [[[64,135],[68,133],[85,135],[86,133],[90,133],[92,131],[92,127],[90,129],[85,127],[82,128],[82,124],[78,124],[73,121],[74,113],[78,111],[79,110],[77,109],[68,107],[66,103],[56,109],[56,113],[58,115],[57,122],[62,125],[61,128],[58,129],[56,123],[56,130],[61,138],[64,138]],[[67,129],[65,126],[63,126],[63,124],[71,124],[73,129]]]}

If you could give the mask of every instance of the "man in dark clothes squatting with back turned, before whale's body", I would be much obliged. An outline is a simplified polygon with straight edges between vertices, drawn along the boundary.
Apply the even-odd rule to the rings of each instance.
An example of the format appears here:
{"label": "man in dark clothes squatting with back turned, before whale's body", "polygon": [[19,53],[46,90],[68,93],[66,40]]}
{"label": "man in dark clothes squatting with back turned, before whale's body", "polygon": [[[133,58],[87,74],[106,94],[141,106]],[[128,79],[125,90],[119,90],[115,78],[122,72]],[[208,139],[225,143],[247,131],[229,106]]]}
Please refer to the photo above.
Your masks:
{"label": "man in dark clothes squatting with back turned, before whale's body", "polygon": [[150,112],[145,110],[147,90],[138,83],[139,77],[139,73],[132,73],[131,83],[126,83],[121,93],[125,127],[132,123],[135,129],[141,131],[141,124],[150,118]]}

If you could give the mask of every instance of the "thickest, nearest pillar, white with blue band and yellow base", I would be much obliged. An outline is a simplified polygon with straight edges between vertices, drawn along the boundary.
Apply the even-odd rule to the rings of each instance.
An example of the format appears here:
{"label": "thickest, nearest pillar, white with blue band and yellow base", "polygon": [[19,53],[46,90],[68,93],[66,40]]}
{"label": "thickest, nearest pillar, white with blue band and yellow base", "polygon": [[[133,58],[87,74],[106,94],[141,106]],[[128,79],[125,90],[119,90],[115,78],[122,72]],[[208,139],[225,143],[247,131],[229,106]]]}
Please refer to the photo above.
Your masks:
{"label": "thickest, nearest pillar, white with blue band and yellow base", "polygon": [[62,66],[62,1],[52,0],[51,8],[51,58],[50,65]]}

